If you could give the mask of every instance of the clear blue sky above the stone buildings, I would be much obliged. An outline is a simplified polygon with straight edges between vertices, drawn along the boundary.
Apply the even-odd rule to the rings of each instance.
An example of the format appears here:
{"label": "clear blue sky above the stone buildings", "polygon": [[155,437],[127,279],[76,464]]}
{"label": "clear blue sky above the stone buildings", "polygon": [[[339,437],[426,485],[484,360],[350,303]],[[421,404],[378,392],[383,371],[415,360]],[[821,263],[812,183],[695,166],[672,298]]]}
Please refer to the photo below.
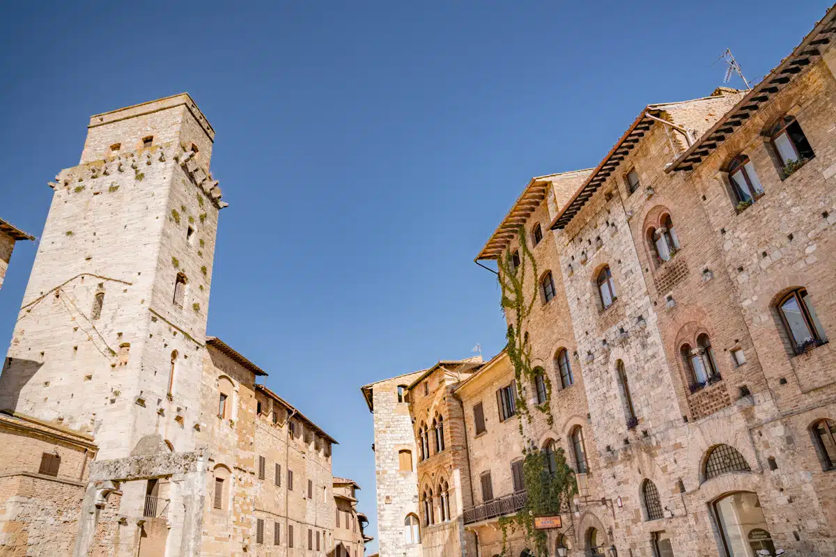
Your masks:
{"label": "clear blue sky above the stone buildings", "polygon": [[[82,4],[0,8],[0,217],[39,235],[90,114],[188,91],[230,203],[209,332],[339,440],[334,473],[363,486],[375,536],[359,387],[502,348],[496,281],[472,260],[528,179],[597,165],[645,104],[710,94],[726,47],[761,78],[828,8]],[[0,291],[0,342],[34,251],[18,245]]]}

